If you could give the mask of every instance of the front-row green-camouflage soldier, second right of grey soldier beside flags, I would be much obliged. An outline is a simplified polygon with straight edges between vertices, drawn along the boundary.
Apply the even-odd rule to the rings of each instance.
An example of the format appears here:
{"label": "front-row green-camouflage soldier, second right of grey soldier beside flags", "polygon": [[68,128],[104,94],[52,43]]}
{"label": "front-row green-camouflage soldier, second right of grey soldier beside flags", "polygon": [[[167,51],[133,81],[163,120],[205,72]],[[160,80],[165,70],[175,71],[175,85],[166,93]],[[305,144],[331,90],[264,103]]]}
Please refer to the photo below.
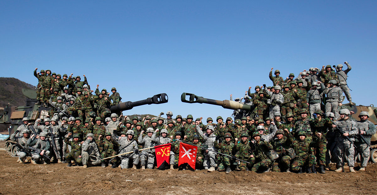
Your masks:
{"label": "front-row green-camouflage soldier, second right of grey soldier beside flags", "polygon": [[[241,134],[241,140],[236,143],[235,150],[237,151],[234,155],[236,158],[247,161],[239,161],[239,170],[248,171],[248,168],[251,168],[251,165],[255,163],[255,158],[252,157],[253,149],[250,145],[250,140],[248,139],[249,135],[247,133]],[[237,168],[236,168],[237,169]]]}

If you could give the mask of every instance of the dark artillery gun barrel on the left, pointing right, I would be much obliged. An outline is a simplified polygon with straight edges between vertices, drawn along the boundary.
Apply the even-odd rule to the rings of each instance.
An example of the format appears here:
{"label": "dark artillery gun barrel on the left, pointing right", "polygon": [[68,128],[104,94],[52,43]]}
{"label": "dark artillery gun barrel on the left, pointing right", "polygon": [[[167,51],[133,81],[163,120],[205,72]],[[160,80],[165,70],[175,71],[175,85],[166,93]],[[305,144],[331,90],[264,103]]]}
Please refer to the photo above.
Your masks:
{"label": "dark artillery gun barrel on the left, pointing right", "polygon": [[146,104],[163,104],[168,101],[168,97],[166,93],[160,93],[157,95],[152,96],[151,98],[147,98],[144,100],[136,101],[136,102],[122,102],[110,108],[110,111],[117,112],[117,111],[124,111],[124,110],[131,110],[133,107],[146,105]]}

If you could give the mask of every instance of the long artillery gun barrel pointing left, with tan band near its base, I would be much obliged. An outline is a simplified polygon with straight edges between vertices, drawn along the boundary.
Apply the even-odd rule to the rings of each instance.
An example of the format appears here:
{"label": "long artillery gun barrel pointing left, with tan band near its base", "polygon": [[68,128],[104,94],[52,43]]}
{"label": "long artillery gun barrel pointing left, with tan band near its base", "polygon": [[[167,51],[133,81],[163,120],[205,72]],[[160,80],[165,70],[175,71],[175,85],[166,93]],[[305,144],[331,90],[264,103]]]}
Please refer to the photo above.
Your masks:
{"label": "long artillery gun barrel pointing left, with tan band near its base", "polygon": [[[187,100],[186,97],[189,96],[189,99]],[[231,110],[251,110],[250,105],[246,104],[240,104],[239,102],[236,101],[230,101],[230,100],[224,100],[224,101],[219,101],[215,99],[208,99],[208,98],[203,98],[201,96],[197,96],[193,93],[182,93],[181,95],[181,101],[185,103],[200,103],[200,104],[212,104],[212,105],[218,105],[222,106],[223,108],[231,109]]]}

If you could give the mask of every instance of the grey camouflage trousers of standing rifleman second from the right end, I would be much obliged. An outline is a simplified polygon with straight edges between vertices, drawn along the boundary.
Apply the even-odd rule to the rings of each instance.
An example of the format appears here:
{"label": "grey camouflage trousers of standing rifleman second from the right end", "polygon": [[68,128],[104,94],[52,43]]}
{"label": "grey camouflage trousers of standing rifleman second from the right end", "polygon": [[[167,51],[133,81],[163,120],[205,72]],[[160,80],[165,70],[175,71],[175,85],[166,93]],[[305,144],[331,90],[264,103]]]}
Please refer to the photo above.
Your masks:
{"label": "grey camouflage trousers of standing rifleman second from the right end", "polygon": [[346,139],[342,137],[336,138],[336,154],[337,154],[337,163],[338,166],[344,166],[344,155],[348,159],[348,166],[355,166],[355,147]]}

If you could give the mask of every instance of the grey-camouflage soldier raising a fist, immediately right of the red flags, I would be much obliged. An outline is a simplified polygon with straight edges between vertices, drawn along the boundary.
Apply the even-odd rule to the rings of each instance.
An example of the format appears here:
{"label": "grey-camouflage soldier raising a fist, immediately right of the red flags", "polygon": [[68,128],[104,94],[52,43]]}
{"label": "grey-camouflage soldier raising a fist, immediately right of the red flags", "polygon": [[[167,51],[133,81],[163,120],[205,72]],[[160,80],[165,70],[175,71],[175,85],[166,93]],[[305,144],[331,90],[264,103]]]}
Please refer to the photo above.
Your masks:
{"label": "grey-camouflage soldier raising a fist, immediately right of the red flags", "polygon": [[[216,151],[214,143],[216,142],[216,135],[213,133],[215,130],[212,125],[208,125],[205,129],[206,133],[199,128],[199,125],[196,125],[196,130],[198,134],[204,139],[204,147],[212,151]],[[207,169],[208,172],[215,171],[216,167],[216,153],[209,150],[204,151],[204,169]]]}

